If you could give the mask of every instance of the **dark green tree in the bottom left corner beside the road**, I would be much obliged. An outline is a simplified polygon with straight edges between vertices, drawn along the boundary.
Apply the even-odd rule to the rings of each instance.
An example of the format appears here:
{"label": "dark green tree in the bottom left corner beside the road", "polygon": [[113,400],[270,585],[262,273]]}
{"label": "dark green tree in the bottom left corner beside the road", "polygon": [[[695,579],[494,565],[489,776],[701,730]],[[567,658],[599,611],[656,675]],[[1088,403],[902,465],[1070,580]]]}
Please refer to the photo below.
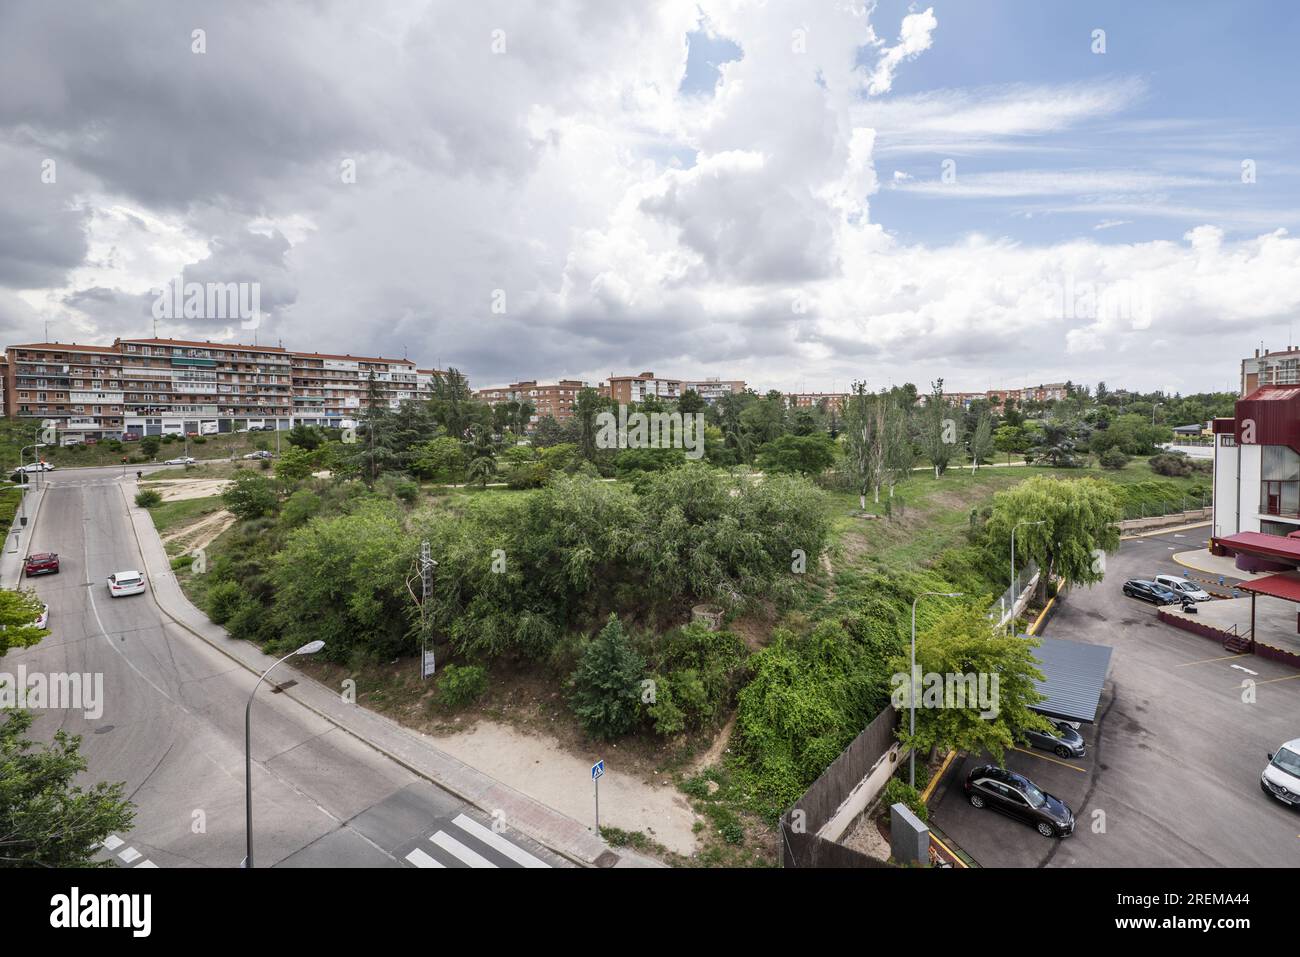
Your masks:
{"label": "dark green tree in the bottom left corner beside the road", "polygon": [[27,711],[5,710],[0,723],[0,866],[112,867],[95,852],[135,817],[125,785],[75,785],[86,771],[81,736],[64,729],[48,745],[26,737]]}

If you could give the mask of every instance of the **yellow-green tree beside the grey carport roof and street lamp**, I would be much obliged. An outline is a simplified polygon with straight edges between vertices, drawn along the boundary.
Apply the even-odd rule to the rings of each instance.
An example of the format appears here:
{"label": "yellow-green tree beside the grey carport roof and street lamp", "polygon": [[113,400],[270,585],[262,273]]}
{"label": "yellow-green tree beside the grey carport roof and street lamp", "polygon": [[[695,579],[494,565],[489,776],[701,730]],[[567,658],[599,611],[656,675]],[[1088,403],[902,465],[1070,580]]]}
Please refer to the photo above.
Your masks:
{"label": "yellow-green tree beside the grey carport roof and street lamp", "polygon": [[1037,645],[1035,638],[996,628],[976,605],[942,614],[916,635],[914,681],[907,677],[907,655],[892,662],[896,709],[909,707],[911,685],[916,687],[916,733],[904,724],[898,740],[918,752],[988,752],[1001,763],[1022,731],[1050,727],[1031,710],[1043,701],[1034,685],[1043,680],[1034,657]]}

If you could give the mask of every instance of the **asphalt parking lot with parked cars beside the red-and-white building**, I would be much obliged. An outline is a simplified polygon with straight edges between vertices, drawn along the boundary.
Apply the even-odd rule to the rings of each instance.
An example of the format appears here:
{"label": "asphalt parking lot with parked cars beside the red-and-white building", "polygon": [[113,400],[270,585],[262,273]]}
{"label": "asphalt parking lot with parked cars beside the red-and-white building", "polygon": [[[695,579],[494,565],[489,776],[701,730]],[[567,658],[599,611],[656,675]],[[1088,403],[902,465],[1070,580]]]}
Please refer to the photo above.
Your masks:
{"label": "asphalt parking lot with parked cars beside the red-and-white building", "polygon": [[[962,783],[989,758],[967,757],[936,791],[931,818],[980,865],[1300,865],[1300,811],[1260,791],[1268,753],[1300,737],[1300,671],[1230,655],[1121,593],[1130,577],[1182,575],[1171,555],[1204,540],[1197,528],[1126,541],[1109,557],[1104,583],[1074,589],[1061,603],[1045,635],[1114,648],[1097,723],[1082,728],[1088,755],[1015,750],[1005,766],[1069,804],[1075,833],[1046,839],[971,807]],[[1243,700],[1249,690],[1251,703]]]}

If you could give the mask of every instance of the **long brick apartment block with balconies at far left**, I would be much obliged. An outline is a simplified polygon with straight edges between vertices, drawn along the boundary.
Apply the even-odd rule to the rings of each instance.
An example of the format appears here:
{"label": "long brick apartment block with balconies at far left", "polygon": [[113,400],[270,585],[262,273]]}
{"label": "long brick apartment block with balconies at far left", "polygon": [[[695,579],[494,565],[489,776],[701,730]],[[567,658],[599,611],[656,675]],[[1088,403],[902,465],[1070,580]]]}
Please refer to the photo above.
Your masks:
{"label": "long brick apartment block with balconies at far left", "polygon": [[436,374],[421,377],[406,359],[164,338],[26,343],[9,346],[5,361],[5,413],[52,419],[66,442],[346,425],[364,408],[372,372],[390,408],[432,391]]}

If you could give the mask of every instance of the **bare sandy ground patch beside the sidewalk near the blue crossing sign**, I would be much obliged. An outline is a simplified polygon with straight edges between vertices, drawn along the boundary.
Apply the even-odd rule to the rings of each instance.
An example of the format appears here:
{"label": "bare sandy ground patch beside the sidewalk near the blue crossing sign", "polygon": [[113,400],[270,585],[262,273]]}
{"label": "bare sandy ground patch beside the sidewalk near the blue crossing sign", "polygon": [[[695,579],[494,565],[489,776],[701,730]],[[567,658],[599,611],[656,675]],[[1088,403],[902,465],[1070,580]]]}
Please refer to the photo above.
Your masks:
{"label": "bare sandy ground patch beside the sidewalk near the blue crossing sign", "polygon": [[601,824],[641,831],[670,850],[696,852],[692,826],[696,813],[668,778],[646,784],[619,772],[619,753],[610,748],[590,759],[560,750],[549,737],[525,735],[495,722],[478,722],[469,731],[434,739],[448,754],[521,791],[575,820],[594,823],[592,765],[604,758],[601,779]]}

